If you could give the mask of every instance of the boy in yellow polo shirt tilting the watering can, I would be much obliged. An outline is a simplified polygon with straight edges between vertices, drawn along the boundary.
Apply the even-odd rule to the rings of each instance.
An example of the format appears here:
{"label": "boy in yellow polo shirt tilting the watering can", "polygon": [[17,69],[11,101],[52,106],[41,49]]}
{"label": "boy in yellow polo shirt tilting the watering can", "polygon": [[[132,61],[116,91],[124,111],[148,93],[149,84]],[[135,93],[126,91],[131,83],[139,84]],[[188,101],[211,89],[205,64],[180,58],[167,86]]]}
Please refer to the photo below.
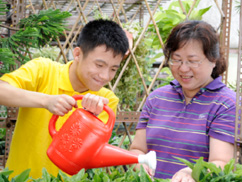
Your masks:
{"label": "boy in yellow polo shirt tilting the watering can", "polygon": [[[116,112],[118,98],[104,88],[111,81],[128,50],[123,29],[109,20],[94,20],[85,25],[74,49],[74,60],[60,64],[37,58],[0,78],[0,105],[19,107],[18,119],[6,164],[16,176],[31,169],[39,178],[42,168],[56,176],[59,169],[46,151],[52,141],[48,124],[52,114],[60,115],[59,130],[73,107],[84,107],[99,115],[103,104]],[[73,95],[84,95],[76,101]],[[105,112],[99,115],[105,123]]]}

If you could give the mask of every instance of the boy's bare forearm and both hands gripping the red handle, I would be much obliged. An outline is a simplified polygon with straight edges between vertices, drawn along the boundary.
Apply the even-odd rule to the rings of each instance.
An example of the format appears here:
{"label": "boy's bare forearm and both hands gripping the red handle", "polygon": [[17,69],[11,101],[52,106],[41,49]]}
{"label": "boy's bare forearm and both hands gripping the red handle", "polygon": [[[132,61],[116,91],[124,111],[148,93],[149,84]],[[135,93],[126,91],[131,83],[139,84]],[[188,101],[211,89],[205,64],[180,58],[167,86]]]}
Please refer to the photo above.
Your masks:
{"label": "boy's bare forearm and both hands gripping the red handle", "polygon": [[[47,95],[39,92],[28,91],[10,85],[0,80],[0,105],[11,107],[33,107],[45,108],[55,115],[64,116],[77,108],[76,100],[69,95]],[[82,106],[95,114],[100,114],[103,104],[107,104],[108,99],[93,94],[83,97]]]}

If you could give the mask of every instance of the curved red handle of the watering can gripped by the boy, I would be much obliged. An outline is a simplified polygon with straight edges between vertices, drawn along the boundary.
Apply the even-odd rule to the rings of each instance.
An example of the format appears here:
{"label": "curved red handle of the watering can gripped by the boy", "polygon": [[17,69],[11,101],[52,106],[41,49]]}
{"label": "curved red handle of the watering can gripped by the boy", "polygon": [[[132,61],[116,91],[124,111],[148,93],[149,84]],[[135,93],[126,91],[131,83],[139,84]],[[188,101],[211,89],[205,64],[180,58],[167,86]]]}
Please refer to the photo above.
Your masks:
{"label": "curved red handle of the watering can gripped by the boy", "polygon": [[[83,95],[74,95],[72,96],[75,100],[81,100],[83,98]],[[110,107],[108,107],[106,104],[104,104],[103,106],[103,110],[106,111],[109,115],[108,121],[107,121],[107,127],[113,127],[114,121],[113,118],[115,118],[115,114],[113,112],[112,109],[110,109]],[[96,117],[96,116],[94,116]],[[57,119],[59,118],[58,115],[54,115],[50,118],[50,122],[49,122],[49,132],[50,132],[50,136],[53,138],[55,136],[55,134],[57,134],[57,131],[55,129],[55,123],[57,121]]]}

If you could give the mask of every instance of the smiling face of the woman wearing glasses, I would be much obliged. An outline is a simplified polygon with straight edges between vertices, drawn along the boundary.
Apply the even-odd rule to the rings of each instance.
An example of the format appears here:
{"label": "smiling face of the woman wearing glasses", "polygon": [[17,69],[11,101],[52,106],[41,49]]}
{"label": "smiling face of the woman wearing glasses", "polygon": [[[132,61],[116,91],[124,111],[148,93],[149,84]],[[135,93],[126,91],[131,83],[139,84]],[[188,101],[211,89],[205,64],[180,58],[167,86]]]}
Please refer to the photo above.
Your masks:
{"label": "smiling face of the woman wearing glasses", "polygon": [[[186,96],[193,97],[202,87],[209,84],[215,63],[210,62],[203,53],[202,44],[196,40],[188,41],[183,47],[174,51],[171,59],[182,61],[181,65],[171,65],[174,78],[181,84]],[[187,63],[192,64],[187,64]],[[199,62],[197,64],[197,62]],[[193,64],[195,63],[195,64]],[[198,67],[193,67],[193,66]]]}

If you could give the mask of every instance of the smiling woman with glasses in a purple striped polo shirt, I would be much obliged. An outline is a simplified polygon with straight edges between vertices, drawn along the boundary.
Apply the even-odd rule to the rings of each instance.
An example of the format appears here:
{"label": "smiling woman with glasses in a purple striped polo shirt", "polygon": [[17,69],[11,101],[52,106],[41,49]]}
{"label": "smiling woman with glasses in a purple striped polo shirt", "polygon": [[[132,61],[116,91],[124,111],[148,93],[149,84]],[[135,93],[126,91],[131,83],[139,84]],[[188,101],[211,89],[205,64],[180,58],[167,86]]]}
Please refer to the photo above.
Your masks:
{"label": "smiling woman with glasses in a purple striped polo shirt", "polygon": [[221,167],[233,158],[236,95],[221,81],[227,64],[208,23],[176,26],[164,54],[175,80],[147,98],[130,150],[156,151],[155,177],[194,182],[191,169],[175,157],[203,157]]}

